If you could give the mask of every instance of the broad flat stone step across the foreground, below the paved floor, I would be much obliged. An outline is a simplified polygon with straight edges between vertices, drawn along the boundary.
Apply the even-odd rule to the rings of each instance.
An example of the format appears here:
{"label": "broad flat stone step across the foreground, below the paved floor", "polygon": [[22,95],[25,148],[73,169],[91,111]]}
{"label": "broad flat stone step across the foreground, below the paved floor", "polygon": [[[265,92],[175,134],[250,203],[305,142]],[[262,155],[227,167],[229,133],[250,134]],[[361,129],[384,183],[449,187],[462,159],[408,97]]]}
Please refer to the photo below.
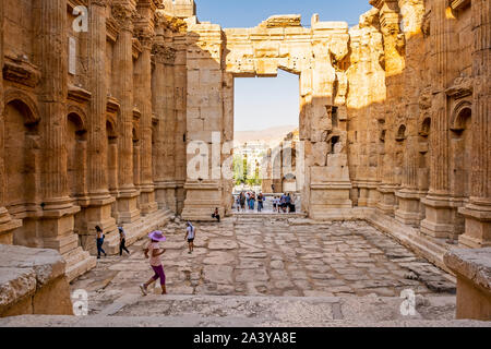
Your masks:
{"label": "broad flat stone step across the foreground, below the paved floor", "polygon": [[414,314],[402,313],[404,301],[395,297],[127,293],[88,316],[24,315],[0,318],[0,326],[491,327],[491,322],[455,320],[454,297],[417,298]]}

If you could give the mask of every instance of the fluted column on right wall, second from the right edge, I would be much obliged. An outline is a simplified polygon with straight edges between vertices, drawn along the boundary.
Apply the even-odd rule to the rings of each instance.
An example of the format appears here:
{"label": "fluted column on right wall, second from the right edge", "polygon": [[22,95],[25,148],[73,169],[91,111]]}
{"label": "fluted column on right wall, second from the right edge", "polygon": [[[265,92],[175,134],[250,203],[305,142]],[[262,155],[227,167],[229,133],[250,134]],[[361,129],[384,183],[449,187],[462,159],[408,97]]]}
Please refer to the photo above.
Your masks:
{"label": "fluted column on right wall, second from the right edge", "polygon": [[451,23],[447,19],[447,1],[432,1],[431,36],[433,40],[433,118],[431,120],[430,190],[421,202],[426,218],[421,232],[434,238],[452,238],[455,232],[455,204],[450,193],[448,104],[445,89],[452,79],[450,50],[452,48]]}

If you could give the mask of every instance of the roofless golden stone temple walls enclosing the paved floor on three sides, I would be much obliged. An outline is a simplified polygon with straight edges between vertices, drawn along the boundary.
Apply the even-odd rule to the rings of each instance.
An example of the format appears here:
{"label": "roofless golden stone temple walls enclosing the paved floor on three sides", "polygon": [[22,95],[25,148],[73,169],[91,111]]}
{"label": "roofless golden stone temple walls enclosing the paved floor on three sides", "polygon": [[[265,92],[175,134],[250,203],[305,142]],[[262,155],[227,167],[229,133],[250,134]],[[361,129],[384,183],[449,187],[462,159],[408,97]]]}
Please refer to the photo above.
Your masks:
{"label": "roofless golden stone temple walls enclosing the paved floor on three sides", "polygon": [[[113,254],[117,225],[131,244],[232,215],[233,81],[284,70],[308,218],[366,220],[442,268],[491,246],[490,1],[370,4],[352,27],[223,28],[193,0],[0,1],[0,243],[58,251],[72,280],[95,226]],[[218,160],[195,178],[200,152]]]}

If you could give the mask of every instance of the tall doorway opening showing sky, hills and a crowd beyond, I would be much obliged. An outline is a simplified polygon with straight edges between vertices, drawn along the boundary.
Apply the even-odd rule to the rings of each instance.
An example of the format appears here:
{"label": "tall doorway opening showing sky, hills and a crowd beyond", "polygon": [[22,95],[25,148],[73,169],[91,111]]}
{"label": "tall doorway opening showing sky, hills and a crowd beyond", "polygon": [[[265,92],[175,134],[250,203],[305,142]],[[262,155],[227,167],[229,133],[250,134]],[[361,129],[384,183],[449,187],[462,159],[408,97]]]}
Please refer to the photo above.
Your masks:
{"label": "tall doorway opening showing sky, hills and a crowd beyond", "polygon": [[235,79],[236,213],[301,210],[297,179],[299,88],[299,76],[283,70],[275,77]]}

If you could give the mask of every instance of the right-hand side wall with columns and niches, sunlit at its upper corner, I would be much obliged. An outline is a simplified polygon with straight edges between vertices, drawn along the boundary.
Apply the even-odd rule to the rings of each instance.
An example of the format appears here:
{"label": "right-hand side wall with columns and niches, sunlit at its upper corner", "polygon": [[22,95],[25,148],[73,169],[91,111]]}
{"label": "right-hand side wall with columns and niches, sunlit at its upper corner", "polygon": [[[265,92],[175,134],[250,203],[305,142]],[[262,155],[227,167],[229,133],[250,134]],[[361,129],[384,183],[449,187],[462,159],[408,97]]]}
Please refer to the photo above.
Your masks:
{"label": "right-hand side wall with columns and niches, sunlit at its upper corner", "polygon": [[489,3],[370,3],[350,31],[354,201],[430,238],[487,246]]}

